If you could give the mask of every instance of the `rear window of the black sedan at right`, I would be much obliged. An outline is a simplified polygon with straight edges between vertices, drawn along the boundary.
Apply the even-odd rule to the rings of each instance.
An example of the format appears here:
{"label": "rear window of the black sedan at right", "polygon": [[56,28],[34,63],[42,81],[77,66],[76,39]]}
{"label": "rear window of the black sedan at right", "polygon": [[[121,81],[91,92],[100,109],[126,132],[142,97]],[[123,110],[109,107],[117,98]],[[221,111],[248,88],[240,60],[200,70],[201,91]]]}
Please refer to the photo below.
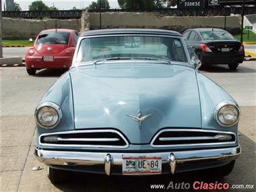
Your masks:
{"label": "rear window of the black sedan at right", "polygon": [[233,36],[225,31],[201,32],[204,40],[233,40]]}

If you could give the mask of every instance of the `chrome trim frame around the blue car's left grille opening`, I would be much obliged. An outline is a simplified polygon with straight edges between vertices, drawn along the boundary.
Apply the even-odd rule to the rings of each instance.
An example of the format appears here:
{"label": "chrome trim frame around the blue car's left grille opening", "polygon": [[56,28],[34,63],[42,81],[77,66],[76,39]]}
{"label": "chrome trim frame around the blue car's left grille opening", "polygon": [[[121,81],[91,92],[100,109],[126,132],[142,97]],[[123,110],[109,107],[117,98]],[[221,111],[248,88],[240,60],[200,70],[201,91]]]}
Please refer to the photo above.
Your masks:
{"label": "chrome trim frame around the blue car's left grille opening", "polygon": [[[104,145],[77,145],[77,144],[49,144],[49,143],[42,143],[41,142],[41,137],[43,136],[49,136],[49,135],[63,135],[63,134],[72,134],[72,133],[116,133],[118,134],[123,141],[125,141],[125,146],[104,146]],[[129,142],[125,137],[123,136],[122,133],[119,131],[116,131],[114,129],[89,129],[89,130],[82,130],[82,131],[61,131],[61,132],[55,132],[55,133],[43,133],[39,135],[38,142],[40,146],[54,146],[54,147],[73,147],[73,148],[81,148],[81,147],[86,147],[86,148],[128,148],[129,147]]]}

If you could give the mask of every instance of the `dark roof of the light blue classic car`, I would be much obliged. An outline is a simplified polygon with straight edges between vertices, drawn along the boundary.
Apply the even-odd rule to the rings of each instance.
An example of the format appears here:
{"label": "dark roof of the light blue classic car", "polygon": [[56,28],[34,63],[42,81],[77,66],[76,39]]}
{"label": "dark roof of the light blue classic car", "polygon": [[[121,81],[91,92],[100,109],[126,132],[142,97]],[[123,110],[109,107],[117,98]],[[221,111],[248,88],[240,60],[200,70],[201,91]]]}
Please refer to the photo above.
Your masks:
{"label": "dark roof of the light blue classic car", "polygon": [[81,36],[94,36],[105,34],[162,34],[181,36],[179,32],[172,30],[157,30],[157,29],[107,29],[107,30],[90,30],[83,32]]}

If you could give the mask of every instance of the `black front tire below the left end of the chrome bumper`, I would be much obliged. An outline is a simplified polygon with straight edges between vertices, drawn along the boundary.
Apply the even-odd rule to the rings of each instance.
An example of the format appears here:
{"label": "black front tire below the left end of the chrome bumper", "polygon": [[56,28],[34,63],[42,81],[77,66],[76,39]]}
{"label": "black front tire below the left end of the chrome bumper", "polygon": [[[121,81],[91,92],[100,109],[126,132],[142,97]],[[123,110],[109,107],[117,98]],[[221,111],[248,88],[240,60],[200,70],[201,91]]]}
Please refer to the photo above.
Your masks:
{"label": "black front tire below the left end of the chrome bumper", "polygon": [[63,183],[69,181],[71,178],[71,172],[68,170],[61,170],[56,168],[51,168],[47,166],[47,176],[51,183]]}

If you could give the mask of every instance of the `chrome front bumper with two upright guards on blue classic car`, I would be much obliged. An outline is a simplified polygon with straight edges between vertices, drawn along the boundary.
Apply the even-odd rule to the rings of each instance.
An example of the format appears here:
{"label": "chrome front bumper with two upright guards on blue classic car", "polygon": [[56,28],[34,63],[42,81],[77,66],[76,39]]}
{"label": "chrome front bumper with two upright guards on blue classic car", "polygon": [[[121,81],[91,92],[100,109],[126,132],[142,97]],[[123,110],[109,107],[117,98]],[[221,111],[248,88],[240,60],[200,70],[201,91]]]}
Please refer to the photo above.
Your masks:
{"label": "chrome front bumper with two upright guards on blue classic car", "polygon": [[211,160],[234,160],[241,154],[241,147],[220,148],[214,150],[190,150],[179,152],[156,153],[106,153],[106,152],[70,152],[39,150],[35,155],[38,161],[48,165],[94,166],[104,165],[104,172],[111,173],[111,166],[122,166],[125,156],[162,156],[162,164],[168,164],[170,173],[174,174],[177,164],[187,162],[205,162]]}

